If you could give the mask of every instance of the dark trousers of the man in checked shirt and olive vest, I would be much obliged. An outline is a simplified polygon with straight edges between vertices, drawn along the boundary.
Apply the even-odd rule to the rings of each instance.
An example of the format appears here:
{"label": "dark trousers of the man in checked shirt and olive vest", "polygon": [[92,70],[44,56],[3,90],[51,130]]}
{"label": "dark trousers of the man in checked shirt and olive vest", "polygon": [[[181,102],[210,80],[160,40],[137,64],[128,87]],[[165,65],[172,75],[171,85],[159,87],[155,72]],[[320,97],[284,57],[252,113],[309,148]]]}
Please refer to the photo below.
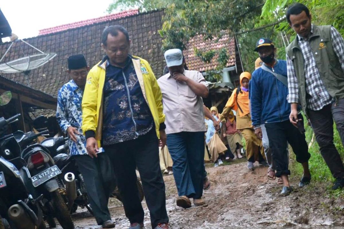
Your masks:
{"label": "dark trousers of the man in checked shirt and olive vest", "polygon": [[344,145],[344,99],[335,106],[334,103],[324,106],[319,111],[308,110],[308,116],[319,144],[321,155],[334,178],[344,177],[341,157],[333,144],[333,120]]}

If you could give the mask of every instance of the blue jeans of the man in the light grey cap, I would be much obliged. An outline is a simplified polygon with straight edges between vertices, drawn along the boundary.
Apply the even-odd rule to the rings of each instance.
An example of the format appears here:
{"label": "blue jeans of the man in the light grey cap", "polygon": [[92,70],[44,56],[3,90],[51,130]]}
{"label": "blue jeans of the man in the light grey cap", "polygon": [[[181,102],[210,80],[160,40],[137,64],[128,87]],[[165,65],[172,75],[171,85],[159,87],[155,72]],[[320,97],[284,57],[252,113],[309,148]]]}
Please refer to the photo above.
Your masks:
{"label": "blue jeans of the man in the light grey cap", "polygon": [[204,179],[204,132],[168,134],[167,147],[178,195],[200,199]]}

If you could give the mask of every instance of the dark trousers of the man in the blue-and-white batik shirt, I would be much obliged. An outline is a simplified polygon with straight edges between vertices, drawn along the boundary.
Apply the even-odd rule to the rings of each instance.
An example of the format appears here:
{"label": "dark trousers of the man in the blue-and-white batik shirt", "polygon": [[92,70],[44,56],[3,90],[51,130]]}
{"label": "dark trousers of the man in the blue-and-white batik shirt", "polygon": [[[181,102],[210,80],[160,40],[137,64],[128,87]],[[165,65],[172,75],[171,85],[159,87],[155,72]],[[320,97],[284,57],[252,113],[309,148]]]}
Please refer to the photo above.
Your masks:
{"label": "dark trousers of the man in the blue-and-white batik shirt", "polygon": [[101,225],[111,219],[108,201],[115,189],[112,164],[104,153],[99,153],[97,158],[88,155],[76,155],[73,158],[83,176],[94,217],[97,224]]}

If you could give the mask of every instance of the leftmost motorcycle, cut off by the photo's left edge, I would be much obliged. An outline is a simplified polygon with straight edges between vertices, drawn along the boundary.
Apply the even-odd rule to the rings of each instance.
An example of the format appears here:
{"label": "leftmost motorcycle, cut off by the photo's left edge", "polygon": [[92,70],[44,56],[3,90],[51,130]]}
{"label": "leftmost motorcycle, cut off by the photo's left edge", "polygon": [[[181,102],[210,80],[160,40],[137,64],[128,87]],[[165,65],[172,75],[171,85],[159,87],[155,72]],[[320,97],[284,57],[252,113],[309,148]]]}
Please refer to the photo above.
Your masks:
{"label": "leftmost motorcycle, cut off by the photo's left edge", "polygon": [[39,205],[43,196],[34,199],[29,194],[31,175],[20,157],[20,146],[12,135],[4,135],[7,126],[18,121],[19,116],[0,118],[0,215],[4,217],[0,228],[45,229]]}

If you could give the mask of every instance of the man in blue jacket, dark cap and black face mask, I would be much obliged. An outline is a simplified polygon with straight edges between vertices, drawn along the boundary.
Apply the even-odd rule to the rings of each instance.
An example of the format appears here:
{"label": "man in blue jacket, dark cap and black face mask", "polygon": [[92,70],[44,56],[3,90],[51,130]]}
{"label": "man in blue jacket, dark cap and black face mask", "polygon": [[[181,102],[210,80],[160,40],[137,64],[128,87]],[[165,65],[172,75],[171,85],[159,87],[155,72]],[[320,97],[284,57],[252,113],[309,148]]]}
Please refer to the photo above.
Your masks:
{"label": "man in blue jacket, dark cap and black face mask", "polygon": [[[283,180],[281,195],[289,195],[292,188],[288,180],[290,170],[287,142],[296,154],[296,160],[303,166],[299,187],[305,186],[311,180],[308,168],[311,155],[308,152],[305,135],[289,121],[287,62],[275,59],[276,48],[268,38],[259,39],[255,51],[264,64],[252,73],[250,91],[252,125],[255,127],[255,134],[261,138],[260,124],[265,124],[276,176]],[[302,115],[299,114],[299,119],[301,118]]]}

